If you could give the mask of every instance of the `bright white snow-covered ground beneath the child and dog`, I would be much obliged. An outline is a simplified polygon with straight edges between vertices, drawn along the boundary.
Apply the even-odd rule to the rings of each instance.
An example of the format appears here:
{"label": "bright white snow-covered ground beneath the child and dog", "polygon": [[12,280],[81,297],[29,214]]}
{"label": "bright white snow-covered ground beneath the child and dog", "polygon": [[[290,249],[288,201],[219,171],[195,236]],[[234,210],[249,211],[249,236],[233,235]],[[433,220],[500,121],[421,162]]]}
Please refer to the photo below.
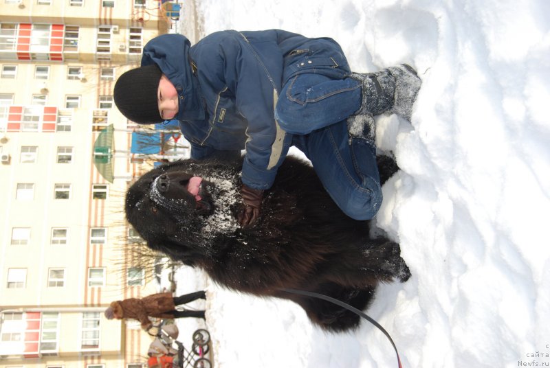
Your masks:
{"label": "bright white snow-covered ground beneath the child and dog", "polygon": [[[401,62],[419,71],[412,126],[391,116],[377,127],[377,145],[401,168],[384,186],[377,226],[401,244],[413,276],[382,286],[368,313],[393,336],[404,367],[550,367],[550,2],[196,6],[201,36],[282,28],[336,39],[354,71]],[[189,14],[181,15],[185,33]],[[293,303],[179,271],[179,292],[203,287],[215,367],[397,366],[369,323],[325,334]],[[179,321],[191,332],[197,323]]]}

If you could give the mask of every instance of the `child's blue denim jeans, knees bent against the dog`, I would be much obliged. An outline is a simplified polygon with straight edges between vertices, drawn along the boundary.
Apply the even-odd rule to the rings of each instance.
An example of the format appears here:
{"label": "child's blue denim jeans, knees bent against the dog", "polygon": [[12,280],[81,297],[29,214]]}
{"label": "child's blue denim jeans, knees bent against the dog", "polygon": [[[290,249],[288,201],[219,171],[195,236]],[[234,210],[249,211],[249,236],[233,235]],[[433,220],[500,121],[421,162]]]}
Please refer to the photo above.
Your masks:
{"label": "child's blue denim jeans, knees bent against the dog", "polygon": [[364,139],[350,141],[346,122],[361,101],[357,80],[301,73],[283,85],[275,117],[283,130],[294,135],[293,145],[311,161],[344,214],[369,220],[382,204],[376,148]]}

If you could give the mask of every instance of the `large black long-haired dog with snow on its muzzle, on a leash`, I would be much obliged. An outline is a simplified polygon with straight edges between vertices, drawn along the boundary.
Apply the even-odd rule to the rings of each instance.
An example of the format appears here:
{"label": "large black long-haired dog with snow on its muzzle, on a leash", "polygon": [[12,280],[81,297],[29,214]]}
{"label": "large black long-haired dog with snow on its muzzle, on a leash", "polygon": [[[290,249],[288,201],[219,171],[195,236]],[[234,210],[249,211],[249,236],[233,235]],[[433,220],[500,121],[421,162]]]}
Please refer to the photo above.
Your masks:
{"label": "large black long-haired dog with snow on its muzzle, on a leash", "polygon": [[[242,161],[177,161],[144,174],[126,194],[126,218],[151,249],[202,268],[227,288],[298,303],[311,321],[338,332],[360,317],[328,295],[365,310],[379,282],[406,281],[399,245],[369,236],[369,221],[344,215],[308,163],[287,157],[266,191],[259,222],[236,222]],[[379,157],[382,182],[396,170]]]}

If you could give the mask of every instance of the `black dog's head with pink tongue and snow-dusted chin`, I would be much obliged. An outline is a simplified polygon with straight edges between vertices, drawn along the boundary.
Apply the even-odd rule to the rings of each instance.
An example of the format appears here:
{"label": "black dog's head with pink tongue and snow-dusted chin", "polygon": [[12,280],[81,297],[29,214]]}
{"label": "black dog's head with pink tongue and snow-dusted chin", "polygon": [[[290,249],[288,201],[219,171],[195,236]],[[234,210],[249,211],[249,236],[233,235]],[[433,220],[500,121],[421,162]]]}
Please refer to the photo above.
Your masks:
{"label": "black dog's head with pink tongue and snow-dusted chin", "polygon": [[[126,218],[152,249],[180,260],[238,228],[239,170],[177,161],[144,174],[126,192]],[[185,254],[184,254],[185,253]]]}

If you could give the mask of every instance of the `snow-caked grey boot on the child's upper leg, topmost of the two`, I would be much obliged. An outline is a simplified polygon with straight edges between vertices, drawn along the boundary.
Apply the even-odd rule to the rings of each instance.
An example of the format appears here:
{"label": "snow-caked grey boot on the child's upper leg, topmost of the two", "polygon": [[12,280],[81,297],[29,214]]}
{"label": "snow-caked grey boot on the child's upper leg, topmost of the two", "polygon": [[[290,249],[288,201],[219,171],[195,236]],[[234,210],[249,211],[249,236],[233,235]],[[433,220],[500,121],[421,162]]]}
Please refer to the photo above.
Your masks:
{"label": "snow-caked grey boot on the child's upper leg, topmost of the two", "polygon": [[401,64],[376,73],[351,73],[362,84],[363,101],[355,115],[378,115],[391,111],[410,122],[421,80],[415,69]]}

